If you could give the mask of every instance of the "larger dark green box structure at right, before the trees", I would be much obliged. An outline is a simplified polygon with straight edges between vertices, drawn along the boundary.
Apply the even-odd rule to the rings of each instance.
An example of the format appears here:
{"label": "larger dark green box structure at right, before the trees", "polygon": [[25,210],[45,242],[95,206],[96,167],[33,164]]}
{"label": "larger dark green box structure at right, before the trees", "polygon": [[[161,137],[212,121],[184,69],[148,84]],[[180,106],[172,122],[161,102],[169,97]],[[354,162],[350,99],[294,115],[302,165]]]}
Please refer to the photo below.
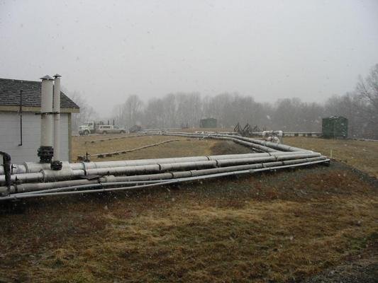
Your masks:
{"label": "larger dark green box structure at right, before the trees", "polygon": [[348,119],[342,116],[323,118],[321,132],[326,139],[346,139],[348,137]]}

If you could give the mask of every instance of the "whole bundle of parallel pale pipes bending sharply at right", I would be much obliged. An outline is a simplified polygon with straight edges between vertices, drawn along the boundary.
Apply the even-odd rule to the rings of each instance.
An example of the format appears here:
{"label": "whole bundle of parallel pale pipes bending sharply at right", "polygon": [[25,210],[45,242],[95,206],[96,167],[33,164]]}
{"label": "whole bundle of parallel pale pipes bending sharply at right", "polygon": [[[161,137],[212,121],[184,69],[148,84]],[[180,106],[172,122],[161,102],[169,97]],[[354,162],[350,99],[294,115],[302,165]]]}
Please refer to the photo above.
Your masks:
{"label": "whole bundle of parallel pale pipes bending sharply at right", "polygon": [[[149,132],[149,134],[155,133]],[[260,152],[130,161],[64,162],[60,171],[51,170],[48,164],[23,163],[13,166],[14,171],[11,175],[13,185],[0,187],[0,195],[2,195],[0,200],[130,190],[201,178],[216,178],[221,175],[255,173],[329,162],[326,156],[321,156],[313,151],[233,134],[182,132],[160,132],[158,134],[230,140]],[[0,167],[0,185],[4,185],[4,183],[5,175],[1,175]],[[128,187],[124,187],[125,185]]]}

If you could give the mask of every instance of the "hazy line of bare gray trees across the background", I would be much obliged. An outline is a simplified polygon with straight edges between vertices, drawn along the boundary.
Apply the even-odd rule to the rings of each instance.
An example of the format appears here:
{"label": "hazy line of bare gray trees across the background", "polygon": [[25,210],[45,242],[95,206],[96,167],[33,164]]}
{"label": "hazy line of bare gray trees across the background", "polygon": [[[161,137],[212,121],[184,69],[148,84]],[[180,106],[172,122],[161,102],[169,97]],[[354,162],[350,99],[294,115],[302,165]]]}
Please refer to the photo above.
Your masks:
{"label": "hazy line of bare gray trees across the background", "polygon": [[[80,104],[80,103],[79,103]],[[86,113],[82,116],[89,119]],[[84,109],[84,112],[91,108]],[[218,127],[234,127],[249,123],[260,129],[282,129],[287,132],[321,132],[323,117],[340,115],[348,118],[349,137],[378,139],[378,64],[367,78],[360,78],[354,91],[333,96],[325,103],[306,103],[299,98],[285,98],[276,103],[259,103],[252,96],[221,93],[201,96],[200,93],[169,93],[162,98],[143,101],[128,96],[113,110],[111,120],[130,128],[199,127],[199,120],[213,117]]]}

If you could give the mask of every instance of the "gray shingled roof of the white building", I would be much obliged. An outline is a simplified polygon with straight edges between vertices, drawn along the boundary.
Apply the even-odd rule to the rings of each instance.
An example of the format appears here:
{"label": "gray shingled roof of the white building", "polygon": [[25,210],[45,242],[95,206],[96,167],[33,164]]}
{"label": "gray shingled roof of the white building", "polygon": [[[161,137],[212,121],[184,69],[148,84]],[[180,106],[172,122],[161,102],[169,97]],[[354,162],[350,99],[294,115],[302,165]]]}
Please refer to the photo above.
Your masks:
{"label": "gray shingled roof of the white building", "polygon": [[[0,105],[20,105],[20,90],[23,91],[23,106],[40,107],[40,81],[21,81],[0,78]],[[60,92],[61,108],[79,108],[65,93]]]}

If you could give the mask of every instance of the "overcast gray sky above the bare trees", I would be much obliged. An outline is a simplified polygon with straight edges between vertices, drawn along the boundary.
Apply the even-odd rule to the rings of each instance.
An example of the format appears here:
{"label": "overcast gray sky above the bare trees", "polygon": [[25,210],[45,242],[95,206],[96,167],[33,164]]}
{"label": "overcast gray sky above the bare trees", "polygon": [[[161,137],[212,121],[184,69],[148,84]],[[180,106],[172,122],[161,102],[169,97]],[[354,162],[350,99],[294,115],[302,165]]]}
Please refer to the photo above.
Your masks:
{"label": "overcast gray sky above the bare trees", "polygon": [[101,115],[177,91],[323,101],[377,63],[377,0],[0,0],[0,77],[62,74]]}

